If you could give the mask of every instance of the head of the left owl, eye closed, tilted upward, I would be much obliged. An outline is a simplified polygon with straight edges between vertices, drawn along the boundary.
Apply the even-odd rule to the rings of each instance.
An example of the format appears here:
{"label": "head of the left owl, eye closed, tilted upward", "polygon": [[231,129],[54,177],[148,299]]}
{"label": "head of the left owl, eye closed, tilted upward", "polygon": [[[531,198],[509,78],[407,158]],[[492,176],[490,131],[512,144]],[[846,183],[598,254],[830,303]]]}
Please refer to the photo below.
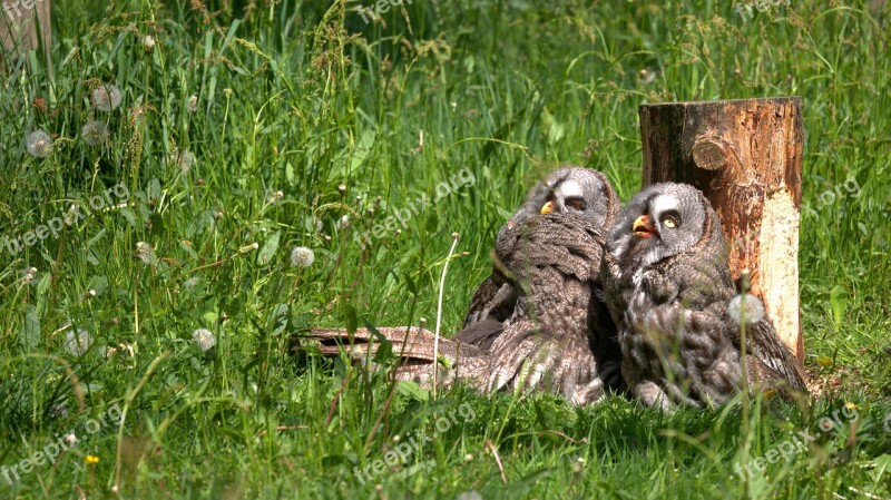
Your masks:
{"label": "head of the left owl, eye closed, tilted upward", "polygon": [[595,227],[608,228],[620,207],[604,174],[589,168],[564,167],[548,174],[529,192],[507,227],[512,228],[538,214],[576,214]]}

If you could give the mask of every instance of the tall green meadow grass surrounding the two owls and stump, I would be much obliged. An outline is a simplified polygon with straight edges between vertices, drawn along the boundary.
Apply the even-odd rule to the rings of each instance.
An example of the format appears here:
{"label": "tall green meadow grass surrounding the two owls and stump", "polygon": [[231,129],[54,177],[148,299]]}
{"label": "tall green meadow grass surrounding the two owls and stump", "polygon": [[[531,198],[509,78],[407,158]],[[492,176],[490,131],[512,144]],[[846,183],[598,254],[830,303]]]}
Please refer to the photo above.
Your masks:
{"label": "tall green meadow grass surrounding the two owls and stump", "polygon": [[[0,237],[86,214],[0,256],[0,465],[80,440],[0,476],[0,496],[891,498],[883,1],[744,20],[707,0],[415,0],[369,24],[359,4],[53,2],[52,71],[0,62]],[[89,104],[100,82],[121,90],[111,112]],[[786,95],[804,100],[800,287],[819,398],[756,401],[746,422],[738,404],[432,400],[288,353],[311,325],[432,325],[453,232],[442,327],[457,331],[544,173],[598,168],[624,200],[639,188],[639,105]],[[109,130],[99,146],[81,138],[89,119]],[[25,148],[36,129],[55,138],[46,158]],[[404,228],[374,233],[438,187]],[[312,265],[292,265],[296,246]],[[86,352],[69,342],[81,329]],[[404,462],[388,454],[401,443]],[[735,465],[760,458],[743,480]]]}

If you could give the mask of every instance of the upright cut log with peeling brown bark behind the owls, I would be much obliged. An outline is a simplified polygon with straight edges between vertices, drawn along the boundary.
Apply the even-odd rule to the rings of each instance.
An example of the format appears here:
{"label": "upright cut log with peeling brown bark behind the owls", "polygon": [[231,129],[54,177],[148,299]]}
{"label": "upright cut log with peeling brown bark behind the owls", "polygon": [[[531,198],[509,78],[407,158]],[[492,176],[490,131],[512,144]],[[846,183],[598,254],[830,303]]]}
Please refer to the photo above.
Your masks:
{"label": "upright cut log with peeling brown bark behind the owls", "polygon": [[644,105],[639,112],[644,186],[686,183],[705,194],[727,237],[733,278],[751,272],[751,293],[801,363],[801,98]]}

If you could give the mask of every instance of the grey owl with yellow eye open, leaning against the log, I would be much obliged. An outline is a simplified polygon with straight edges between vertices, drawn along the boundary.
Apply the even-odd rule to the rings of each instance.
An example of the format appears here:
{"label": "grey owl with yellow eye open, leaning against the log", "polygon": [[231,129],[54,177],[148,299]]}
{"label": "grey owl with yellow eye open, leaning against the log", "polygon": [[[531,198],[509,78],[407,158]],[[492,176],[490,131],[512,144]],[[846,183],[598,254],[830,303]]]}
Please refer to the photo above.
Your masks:
{"label": "grey owl with yellow eye open, leaning against the log", "polygon": [[753,385],[805,391],[761,301],[734,288],[721,223],[695,187],[637,194],[610,229],[600,275],[621,374],[645,404],[719,405],[741,389],[744,363]]}

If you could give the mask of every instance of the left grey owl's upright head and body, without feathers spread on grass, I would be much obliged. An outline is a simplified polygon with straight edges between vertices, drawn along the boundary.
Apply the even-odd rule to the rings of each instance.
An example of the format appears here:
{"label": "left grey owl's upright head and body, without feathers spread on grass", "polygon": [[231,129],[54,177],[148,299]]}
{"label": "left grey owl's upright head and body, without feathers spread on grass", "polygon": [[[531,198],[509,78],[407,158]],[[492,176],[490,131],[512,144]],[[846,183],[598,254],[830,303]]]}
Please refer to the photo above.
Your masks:
{"label": "left grey owl's upright head and body, without feathers spread on grass", "polygon": [[501,228],[496,267],[456,336],[490,352],[489,391],[535,389],[584,405],[620,388],[620,353],[599,280],[619,208],[603,174],[561,168]]}

